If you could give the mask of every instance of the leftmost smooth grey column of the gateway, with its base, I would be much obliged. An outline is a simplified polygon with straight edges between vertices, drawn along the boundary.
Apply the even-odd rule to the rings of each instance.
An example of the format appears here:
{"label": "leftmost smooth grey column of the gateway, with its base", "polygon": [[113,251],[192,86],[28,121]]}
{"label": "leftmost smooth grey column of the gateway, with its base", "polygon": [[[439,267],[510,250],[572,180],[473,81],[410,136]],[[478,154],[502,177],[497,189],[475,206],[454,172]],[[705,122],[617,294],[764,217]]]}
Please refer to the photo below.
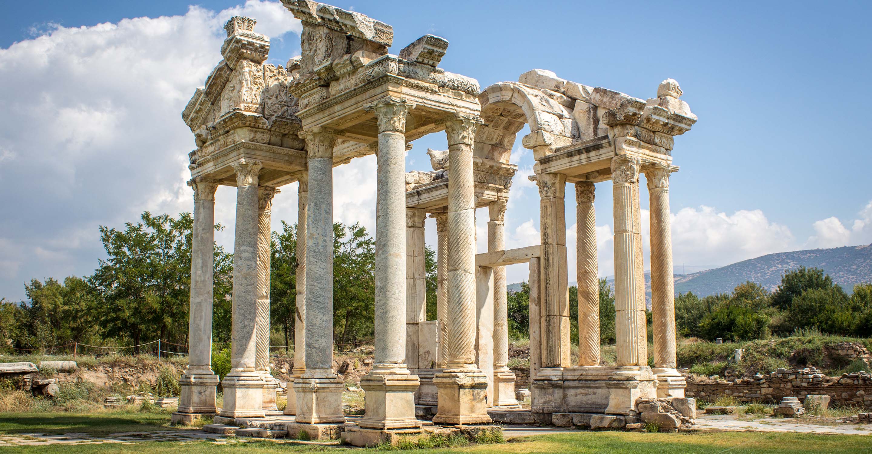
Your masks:
{"label": "leftmost smooth grey column of the gateway, with its base", "polygon": [[212,302],[215,267],[215,189],[208,180],[191,180],[194,188],[194,228],[191,245],[191,308],[188,319],[187,369],[181,376],[179,410],[174,422],[191,423],[214,415],[218,376],[212,371]]}

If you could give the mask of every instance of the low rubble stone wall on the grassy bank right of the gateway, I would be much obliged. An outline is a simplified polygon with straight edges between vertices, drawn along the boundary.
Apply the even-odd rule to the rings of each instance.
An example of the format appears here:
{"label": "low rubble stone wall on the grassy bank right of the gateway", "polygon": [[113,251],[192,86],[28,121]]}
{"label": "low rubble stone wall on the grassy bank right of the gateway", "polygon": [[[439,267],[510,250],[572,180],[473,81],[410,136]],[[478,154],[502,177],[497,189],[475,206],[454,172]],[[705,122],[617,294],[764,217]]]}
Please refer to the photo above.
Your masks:
{"label": "low rubble stone wall on the grassy bank right of the gateway", "polygon": [[783,397],[804,399],[809,394],[826,394],[840,405],[872,408],[872,374],[852,373],[825,376],[820,370],[778,369],[773,373],[753,378],[726,380],[703,379],[688,376],[685,396],[713,402],[719,397],[732,396],[739,402],[778,403]]}

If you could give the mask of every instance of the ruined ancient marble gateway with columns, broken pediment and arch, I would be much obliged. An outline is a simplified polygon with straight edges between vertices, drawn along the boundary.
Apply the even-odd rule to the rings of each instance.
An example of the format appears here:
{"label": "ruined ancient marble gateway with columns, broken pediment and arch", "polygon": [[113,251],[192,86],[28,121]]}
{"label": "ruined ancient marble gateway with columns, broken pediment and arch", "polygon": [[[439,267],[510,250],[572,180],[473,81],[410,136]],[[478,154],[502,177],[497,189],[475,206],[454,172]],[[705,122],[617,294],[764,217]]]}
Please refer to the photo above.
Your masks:
{"label": "ruined ancient marble gateway with columns, broken pediment and arch", "polygon": [[[308,0],[283,0],[303,22],[302,56],[265,64],[269,37],[255,20],[225,26],[223,60],[194,92],[182,118],[194,132],[189,366],[175,421],[218,415],[216,424],[283,424],[314,437],[371,444],[397,430],[421,430],[419,406],[435,424],[486,424],[517,409],[507,368],[504,266],[530,264],[533,412],[633,417],[637,398],[683,396],[675,370],[669,173],[672,137],[696,121],[662,83],[643,101],[529,71],[484,91],[473,78],[440,69],[445,39],[425,35],[399,56],[390,25]],[[503,221],[517,166],[515,135],[533,150],[542,197],[542,241],[505,250]],[[433,169],[405,172],[410,143],[446,132]],[[344,385],[331,369],[332,168],[376,154],[375,361],[361,386],[364,417],[346,421]],[[647,363],[639,225],[639,174],[651,195],[655,367]],[[615,187],[617,365],[599,360],[595,183]],[[288,407],[276,410],[269,370],[269,218],[278,187],[298,182],[295,363]],[[569,363],[564,189],[578,202],[579,326],[582,357]],[[221,383],[210,367],[214,194],[235,186],[232,369]],[[475,254],[475,208],[488,207],[488,252]],[[426,320],[424,220],[436,219],[438,320]],[[405,239],[405,241],[404,241]]]}

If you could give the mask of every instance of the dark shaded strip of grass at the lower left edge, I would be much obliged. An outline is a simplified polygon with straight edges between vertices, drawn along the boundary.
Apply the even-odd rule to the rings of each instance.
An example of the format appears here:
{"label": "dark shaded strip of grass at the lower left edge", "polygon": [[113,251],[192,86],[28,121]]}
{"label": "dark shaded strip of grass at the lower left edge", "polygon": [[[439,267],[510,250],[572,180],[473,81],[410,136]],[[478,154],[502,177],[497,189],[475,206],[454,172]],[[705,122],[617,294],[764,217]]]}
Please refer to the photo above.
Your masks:
{"label": "dark shaded strip of grass at the lower left edge", "polygon": [[0,414],[2,433],[66,433],[83,432],[106,435],[115,432],[167,430],[169,417],[147,413],[65,414],[37,413]]}

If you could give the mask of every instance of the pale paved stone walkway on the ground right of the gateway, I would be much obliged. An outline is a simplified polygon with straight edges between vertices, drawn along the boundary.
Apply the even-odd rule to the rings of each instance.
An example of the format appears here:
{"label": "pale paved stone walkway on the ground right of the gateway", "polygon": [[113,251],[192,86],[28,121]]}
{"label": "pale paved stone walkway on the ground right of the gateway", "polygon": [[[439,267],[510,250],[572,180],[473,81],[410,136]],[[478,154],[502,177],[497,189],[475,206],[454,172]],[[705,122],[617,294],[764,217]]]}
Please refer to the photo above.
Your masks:
{"label": "pale paved stone walkway on the ground right of the gateway", "polygon": [[797,432],[842,435],[872,435],[872,424],[811,424],[793,418],[761,417],[753,421],[740,420],[735,415],[704,415],[697,417],[695,430],[727,430],[760,432]]}

